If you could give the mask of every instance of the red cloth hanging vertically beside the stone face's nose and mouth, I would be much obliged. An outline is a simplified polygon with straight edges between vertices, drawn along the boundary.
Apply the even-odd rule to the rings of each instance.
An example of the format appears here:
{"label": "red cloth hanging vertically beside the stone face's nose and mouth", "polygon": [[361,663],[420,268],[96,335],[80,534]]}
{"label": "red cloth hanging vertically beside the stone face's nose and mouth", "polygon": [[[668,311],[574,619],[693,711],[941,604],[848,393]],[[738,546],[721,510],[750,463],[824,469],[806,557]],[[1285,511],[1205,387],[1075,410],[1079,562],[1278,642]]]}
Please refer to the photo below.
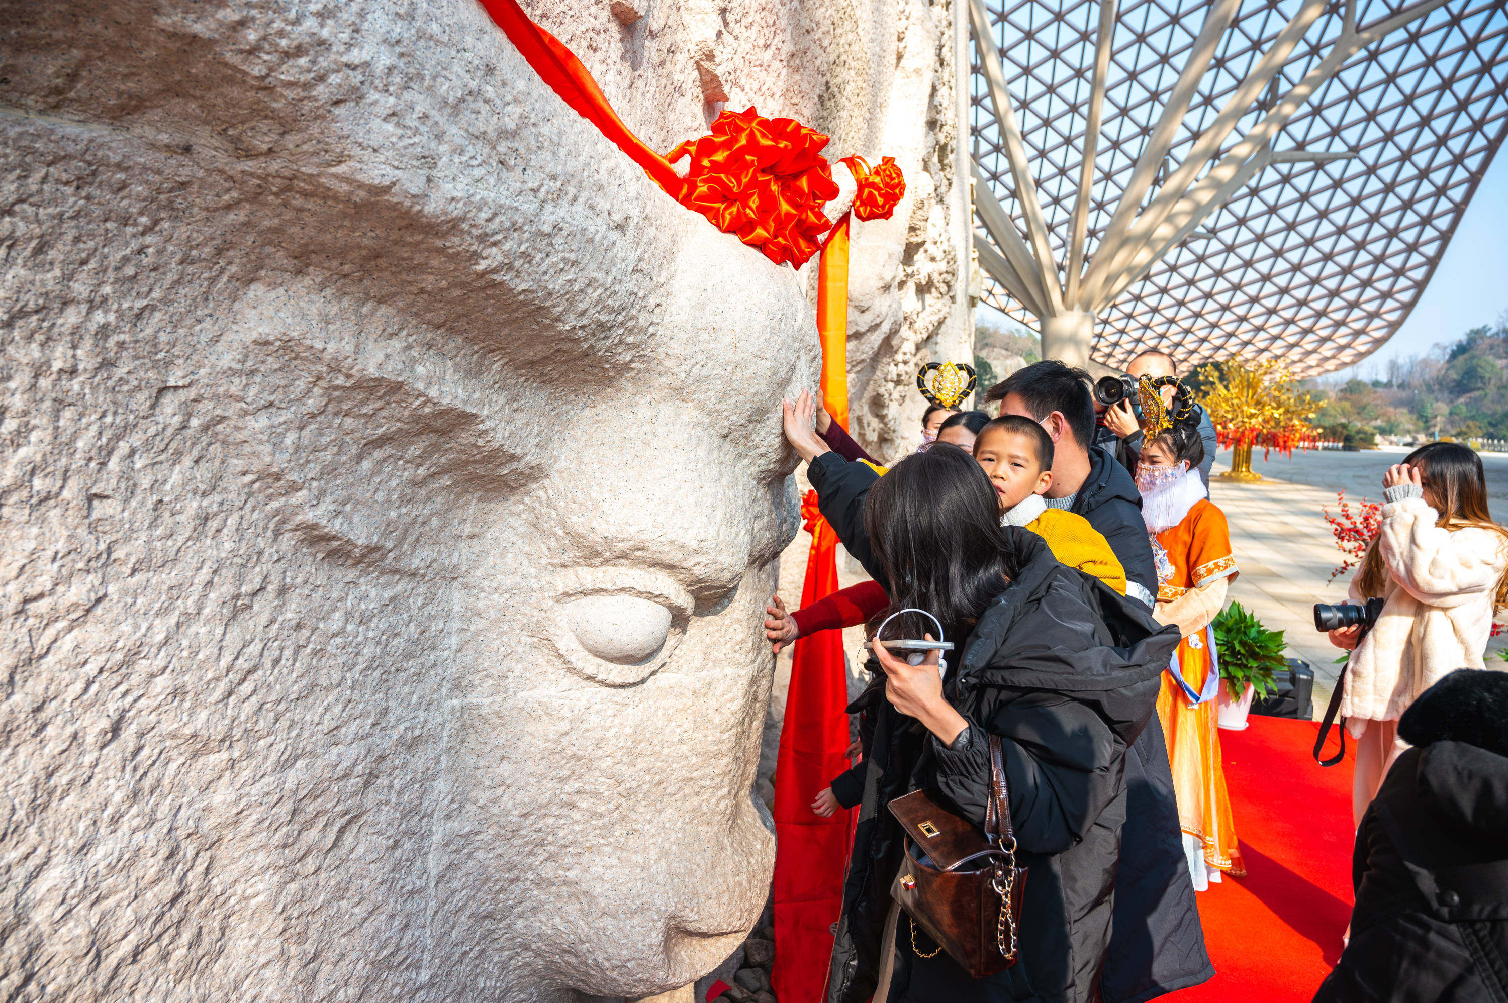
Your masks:
{"label": "red cloth hanging vertically beside the stone face's nose and mouth", "polygon": [[[817,511],[816,492],[801,504],[811,534],[802,608],[838,588],[837,534]],[[823,630],[796,641],[786,719],[775,760],[775,968],[781,1003],[819,1003],[832,955],[829,928],[843,911],[849,816],[813,813],[817,792],[847,769],[847,673],[843,633]]]}

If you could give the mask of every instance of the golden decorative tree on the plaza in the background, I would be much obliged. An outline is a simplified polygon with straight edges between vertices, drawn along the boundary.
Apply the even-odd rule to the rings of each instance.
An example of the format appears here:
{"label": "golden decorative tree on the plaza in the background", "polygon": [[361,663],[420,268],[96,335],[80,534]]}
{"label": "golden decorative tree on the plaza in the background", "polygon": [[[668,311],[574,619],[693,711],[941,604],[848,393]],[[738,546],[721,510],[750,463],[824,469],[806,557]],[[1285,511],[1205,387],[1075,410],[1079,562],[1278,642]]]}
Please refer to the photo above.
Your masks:
{"label": "golden decorative tree on the plaza in the background", "polygon": [[1231,446],[1231,471],[1221,477],[1259,481],[1252,471],[1252,448],[1262,446],[1291,454],[1307,449],[1315,440],[1309,424],[1313,401],[1300,391],[1288,370],[1277,360],[1209,362],[1199,368],[1203,386],[1199,403],[1209,412],[1221,446]]}

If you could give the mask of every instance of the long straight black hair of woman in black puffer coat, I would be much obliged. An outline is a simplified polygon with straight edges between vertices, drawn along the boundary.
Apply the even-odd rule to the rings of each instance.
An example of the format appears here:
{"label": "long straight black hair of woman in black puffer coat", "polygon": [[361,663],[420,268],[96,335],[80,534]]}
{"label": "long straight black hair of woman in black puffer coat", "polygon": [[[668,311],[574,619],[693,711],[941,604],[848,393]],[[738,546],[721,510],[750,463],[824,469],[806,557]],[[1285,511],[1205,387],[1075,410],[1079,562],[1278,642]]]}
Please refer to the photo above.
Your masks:
{"label": "long straight black hair of woman in black puffer coat", "polygon": [[[875,483],[864,528],[890,578],[891,609],[926,609],[950,641],[964,640],[1021,564],[1013,537],[1000,525],[989,477],[974,457],[946,442],[908,455]],[[936,630],[915,614],[897,617],[891,627],[905,636]],[[902,636],[893,629],[887,636]]]}

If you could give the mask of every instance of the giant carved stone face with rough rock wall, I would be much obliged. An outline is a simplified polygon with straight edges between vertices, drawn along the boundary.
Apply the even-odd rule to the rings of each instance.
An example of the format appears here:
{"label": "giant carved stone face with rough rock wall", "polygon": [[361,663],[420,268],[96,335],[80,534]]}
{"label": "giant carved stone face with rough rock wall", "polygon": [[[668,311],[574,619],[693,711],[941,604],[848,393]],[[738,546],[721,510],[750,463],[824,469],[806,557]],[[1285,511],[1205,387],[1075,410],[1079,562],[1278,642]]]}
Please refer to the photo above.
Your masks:
{"label": "giant carved stone face with rough rock wall", "polygon": [[[959,253],[950,124],[897,112],[946,110],[950,9],[532,12],[656,146],[721,86],[935,164],[857,234],[885,428],[953,323],[906,299]],[[0,998],[641,997],[722,961],[774,852],[814,264],[671,202],[469,0],[0,26]]]}

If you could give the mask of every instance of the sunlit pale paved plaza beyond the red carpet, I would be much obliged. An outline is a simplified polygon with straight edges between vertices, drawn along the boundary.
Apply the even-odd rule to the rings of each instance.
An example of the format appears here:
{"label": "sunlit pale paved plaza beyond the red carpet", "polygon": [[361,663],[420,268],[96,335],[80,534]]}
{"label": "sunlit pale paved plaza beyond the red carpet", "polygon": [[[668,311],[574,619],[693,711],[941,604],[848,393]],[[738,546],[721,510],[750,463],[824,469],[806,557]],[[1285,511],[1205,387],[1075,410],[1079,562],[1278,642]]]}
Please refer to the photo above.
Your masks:
{"label": "sunlit pale paved plaza beyond the red carpet", "polygon": [[[1231,543],[1241,569],[1231,597],[1252,609],[1270,629],[1283,630],[1289,655],[1313,667],[1316,718],[1330,700],[1339,652],[1313,629],[1313,605],[1345,602],[1351,579],[1348,573],[1329,581],[1330,572],[1341,563],[1341,552],[1321,508],[1329,505],[1333,513],[1336,492],[1342,487],[1348,499],[1365,496],[1381,501],[1383,472],[1407,452],[1401,448],[1362,452],[1327,449],[1294,452],[1292,459],[1274,452],[1268,460],[1258,454],[1252,469],[1264,481],[1209,481],[1211,499],[1231,522]],[[1503,522],[1508,516],[1508,454],[1482,454],[1482,466],[1493,517]],[[1231,452],[1223,449],[1215,460],[1215,474],[1229,468]],[[1503,641],[1488,641],[1488,653],[1503,647]],[[1488,665],[1497,664],[1491,655],[1488,659]]]}

